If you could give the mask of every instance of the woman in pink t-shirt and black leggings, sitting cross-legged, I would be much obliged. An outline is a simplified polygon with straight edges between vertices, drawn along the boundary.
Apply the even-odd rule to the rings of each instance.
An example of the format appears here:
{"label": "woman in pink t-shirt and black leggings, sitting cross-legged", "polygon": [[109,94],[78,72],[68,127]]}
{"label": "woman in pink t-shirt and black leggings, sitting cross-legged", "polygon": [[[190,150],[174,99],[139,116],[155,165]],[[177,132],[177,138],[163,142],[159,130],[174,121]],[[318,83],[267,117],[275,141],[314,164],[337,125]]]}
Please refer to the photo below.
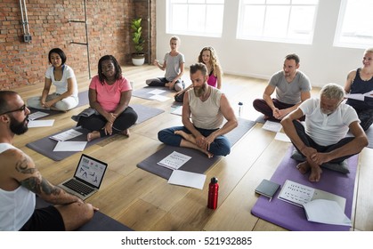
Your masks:
{"label": "woman in pink t-shirt and black leggings, sitting cross-legged", "polygon": [[122,76],[122,69],[112,55],[99,60],[98,75],[89,85],[89,105],[94,109],[91,116],[80,116],[77,125],[90,130],[87,141],[122,133],[129,136],[129,127],[134,125],[137,114],[129,107],[132,87]]}

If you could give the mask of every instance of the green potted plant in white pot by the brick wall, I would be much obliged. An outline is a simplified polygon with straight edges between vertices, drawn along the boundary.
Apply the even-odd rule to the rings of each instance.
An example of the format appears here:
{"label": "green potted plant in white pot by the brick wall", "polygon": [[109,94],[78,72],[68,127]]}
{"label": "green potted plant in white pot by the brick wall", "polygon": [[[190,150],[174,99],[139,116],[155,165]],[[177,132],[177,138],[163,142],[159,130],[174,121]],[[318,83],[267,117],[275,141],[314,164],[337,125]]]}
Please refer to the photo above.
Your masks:
{"label": "green potted plant in white pot by the brick wall", "polygon": [[132,63],[134,66],[141,66],[145,61],[145,54],[143,52],[143,44],[145,41],[142,38],[142,19],[137,18],[131,21],[132,41],[134,42],[134,51],[132,53]]}

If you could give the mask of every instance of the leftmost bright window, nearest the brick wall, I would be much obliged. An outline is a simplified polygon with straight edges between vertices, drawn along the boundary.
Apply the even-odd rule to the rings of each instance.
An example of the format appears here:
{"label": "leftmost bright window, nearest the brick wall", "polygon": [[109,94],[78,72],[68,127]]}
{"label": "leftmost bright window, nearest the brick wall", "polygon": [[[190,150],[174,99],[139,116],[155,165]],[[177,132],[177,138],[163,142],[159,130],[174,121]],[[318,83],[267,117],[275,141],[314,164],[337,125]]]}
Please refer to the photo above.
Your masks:
{"label": "leftmost bright window, nearest the brick wall", "polygon": [[166,32],[221,37],[224,0],[167,0]]}

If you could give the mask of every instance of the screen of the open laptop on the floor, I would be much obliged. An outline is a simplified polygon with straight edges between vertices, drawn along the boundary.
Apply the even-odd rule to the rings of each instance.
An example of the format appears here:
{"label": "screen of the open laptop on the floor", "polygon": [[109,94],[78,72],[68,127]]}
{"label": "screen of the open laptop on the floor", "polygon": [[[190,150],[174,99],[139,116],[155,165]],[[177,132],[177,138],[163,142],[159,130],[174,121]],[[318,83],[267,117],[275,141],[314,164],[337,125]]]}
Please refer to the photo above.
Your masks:
{"label": "screen of the open laptop on the floor", "polygon": [[108,164],[82,154],[74,177],[99,189]]}

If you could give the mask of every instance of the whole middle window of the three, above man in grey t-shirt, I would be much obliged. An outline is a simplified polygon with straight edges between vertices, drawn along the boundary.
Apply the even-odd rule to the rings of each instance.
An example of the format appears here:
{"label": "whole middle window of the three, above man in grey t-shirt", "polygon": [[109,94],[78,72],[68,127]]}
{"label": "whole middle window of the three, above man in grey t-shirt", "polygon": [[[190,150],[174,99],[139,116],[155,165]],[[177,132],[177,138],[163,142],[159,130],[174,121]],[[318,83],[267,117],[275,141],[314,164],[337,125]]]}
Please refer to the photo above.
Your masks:
{"label": "whole middle window of the three, above man in grey t-shirt", "polygon": [[319,0],[240,0],[237,37],[312,44]]}

